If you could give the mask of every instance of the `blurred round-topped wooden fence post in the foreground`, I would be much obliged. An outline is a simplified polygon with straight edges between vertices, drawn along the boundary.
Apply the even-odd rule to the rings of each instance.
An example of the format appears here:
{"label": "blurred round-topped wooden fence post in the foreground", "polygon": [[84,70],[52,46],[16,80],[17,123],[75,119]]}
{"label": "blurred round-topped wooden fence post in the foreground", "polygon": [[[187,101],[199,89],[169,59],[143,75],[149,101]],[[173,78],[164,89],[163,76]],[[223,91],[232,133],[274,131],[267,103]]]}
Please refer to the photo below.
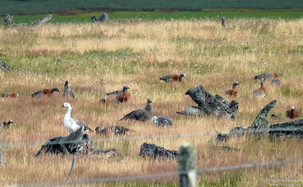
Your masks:
{"label": "blurred round-topped wooden fence post in the foreground", "polygon": [[196,187],[197,185],[197,152],[193,144],[182,143],[179,149],[178,172],[180,187]]}

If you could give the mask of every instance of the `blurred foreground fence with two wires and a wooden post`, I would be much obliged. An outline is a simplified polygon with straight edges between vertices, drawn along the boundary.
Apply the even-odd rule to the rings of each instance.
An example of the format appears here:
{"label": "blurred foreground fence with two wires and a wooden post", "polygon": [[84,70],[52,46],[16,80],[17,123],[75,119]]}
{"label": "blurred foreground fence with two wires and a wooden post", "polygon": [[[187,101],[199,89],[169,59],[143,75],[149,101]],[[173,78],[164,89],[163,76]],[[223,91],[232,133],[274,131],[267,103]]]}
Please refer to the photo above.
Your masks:
{"label": "blurred foreground fence with two wires and a wooden post", "polygon": [[[294,127],[296,130],[296,128]],[[280,128],[271,128],[271,129],[258,129],[257,132],[261,133],[268,133],[272,130],[281,130]],[[243,133],[252,133],[253,130],[238,130],[233,135],[240,135]],[[155,138],[171,138],[171,137],[189,137],[189,136],[210,136],[210,135],[217,135],[216,132],[213,131],[206,131],[206,132],[200,132],[200,133],[176,133],[176,134],[165,134],[165,135],[149,135],[149,136],[133,136],[133,137],[127,137],[127,136],[120,136],[120,137],[114,137],[114,138],[102,138],[102,139],[92,139],[92,142],[104,142],[104,141],[123,141],[123,140],[137,140],[137,139],[155,139]],[[61,143],[74,143],[74,141],[68,141],[68,142],[61,142]],[[43,142],[28,142],[28,143],[0,143],[0,147],[7,148],[7,147],[21,147],[21,146],[41,146],[41,144],[44,144]],[[183,145],[183,144],[182,144]],[[181,145],[181,147],[182,147]],[[181,149],[181,148],[180,148]],[[195,153],[196,151],[187,151],[187,153]],[[182,151],[180,151],[179,158],[182,157]],[[192,159],[189,159],[190,156],[185,155],[183,156],[185,159],[187,159],[187,162],[192,162]],[[196,161],[194,160],[194,164],[196,166]],[[303,158],[299,159],[291,159],[291,160],[282,160],[282,161],[276,161],[276,162],[254,162],[254,163],[247,163],[247,164],[238,164],[238,165],[231,165],[231,166],[219,166],[219,167],[212,167],[212,168],[185,168],[185,169],[178,169],[176,172],[164,172],[164,173],[152,173],[152,174],[146,174],[146,175],[137,175],[137,176],[123,176],[123,177],[110,177],[110,178],[97,178],[97,179],[83,179],[83,180],[66,180],[66,181],[57,181],[57,182],[36,182],[36,183],[19,183],[19,184],[12,184],[12,185],[4,185],[3,187],[28,187],[28,186],[60,186],[60,185],[71,185],[71,184],[85,184],[85,183],[96,183],[96,182],[115,182],[115,181],[130,181],[130,180],[141,180],[141,179],[152,179],[152,178],[161,178],[161,177],[169,177],[169,176],[177,176],[179,175],[187,175],[187,178],[197,178],[197,174],[199,173],[205,173],[205,172],[218,172],[223,170],[232,170],[232,169],[242,169],[242,168],[253,168],[253,167],[259,167],[259,166],[279,166],[289,163],[298,163],[303,162]],[[182,168],[180,167],[178,168]],[[192,163],[191,163],[192,165]],[[181,179],[181,178],[180,178]],[[196,179],[193,179],[194,181]],[[189,183],[186,181],[186,185],[181,184],[180,180],[180,186],[188,186],[188,187],[195,187],[196,182]]]}

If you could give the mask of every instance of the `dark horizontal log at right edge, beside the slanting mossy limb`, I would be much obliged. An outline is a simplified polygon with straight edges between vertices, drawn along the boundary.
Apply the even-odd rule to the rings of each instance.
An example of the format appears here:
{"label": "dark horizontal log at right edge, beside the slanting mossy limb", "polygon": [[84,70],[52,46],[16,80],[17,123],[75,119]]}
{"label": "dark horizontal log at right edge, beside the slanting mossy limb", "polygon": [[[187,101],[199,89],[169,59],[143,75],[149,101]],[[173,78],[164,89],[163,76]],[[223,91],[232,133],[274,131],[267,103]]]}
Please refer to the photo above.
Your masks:
{"label": "dark horizontal log at right edge, beside the slanting mossy limb", "polygon": [[268,132],[270,137],[284,136],[287,138],[303,138],[303,119],[272,124]]}

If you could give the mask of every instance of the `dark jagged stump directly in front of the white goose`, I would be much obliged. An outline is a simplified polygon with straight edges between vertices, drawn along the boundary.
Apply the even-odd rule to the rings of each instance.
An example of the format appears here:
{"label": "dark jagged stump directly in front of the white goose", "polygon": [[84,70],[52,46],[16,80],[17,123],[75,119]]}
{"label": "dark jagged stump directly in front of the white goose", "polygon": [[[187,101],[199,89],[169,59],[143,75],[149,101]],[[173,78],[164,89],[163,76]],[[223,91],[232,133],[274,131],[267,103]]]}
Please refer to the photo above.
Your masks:
{"label": "dark jagged stump directly in front of the white goose", "polygon": [[92,142],[87,134],[83,134],[84,126],[79,128],[68,136],[58,136],[49,139],[42,145],[41,149],[36,153],[36,156],[42,153],[53,154],[75,154],[75,153],[88,153],[92,151]]}

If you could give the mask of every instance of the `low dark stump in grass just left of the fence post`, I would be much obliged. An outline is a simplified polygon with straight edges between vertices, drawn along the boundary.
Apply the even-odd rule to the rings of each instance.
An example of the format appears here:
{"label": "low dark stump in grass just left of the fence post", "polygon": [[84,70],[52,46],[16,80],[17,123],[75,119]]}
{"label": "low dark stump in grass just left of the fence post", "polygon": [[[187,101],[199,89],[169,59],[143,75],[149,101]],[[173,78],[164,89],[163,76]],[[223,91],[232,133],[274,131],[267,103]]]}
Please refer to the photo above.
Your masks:
{"label": "low dark stump in grass just left of the fence post", "polygon": [[140,148],[140,156],[149,156],[151,158],[177,158],[178,152],[175,150],[167,150],[164,147],[156,146],[153,143],[143,143]]}

